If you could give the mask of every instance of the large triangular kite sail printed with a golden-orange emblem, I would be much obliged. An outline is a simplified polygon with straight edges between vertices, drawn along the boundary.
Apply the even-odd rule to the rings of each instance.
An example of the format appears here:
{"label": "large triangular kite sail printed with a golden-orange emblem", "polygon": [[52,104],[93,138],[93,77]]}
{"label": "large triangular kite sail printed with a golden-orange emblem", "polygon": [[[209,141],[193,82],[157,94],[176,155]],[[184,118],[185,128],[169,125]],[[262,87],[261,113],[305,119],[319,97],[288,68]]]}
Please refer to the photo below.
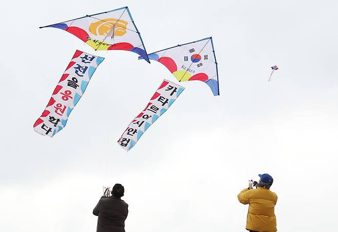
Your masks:
{"label": "large triangular kite sail printed with a golden-orange emblem", "polygon": [[140,32],[128,7],[86,15],[44,27],[68,31],[95,50],[133,51],[150,63]]}

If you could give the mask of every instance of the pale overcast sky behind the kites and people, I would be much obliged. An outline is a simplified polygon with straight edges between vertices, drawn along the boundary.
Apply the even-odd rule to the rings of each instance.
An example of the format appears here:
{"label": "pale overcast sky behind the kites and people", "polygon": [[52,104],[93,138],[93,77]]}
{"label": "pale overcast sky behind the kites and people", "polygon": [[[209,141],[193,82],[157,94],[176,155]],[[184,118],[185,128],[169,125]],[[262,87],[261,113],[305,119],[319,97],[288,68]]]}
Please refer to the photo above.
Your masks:
{"label": "pale overcast sky behind the kites and people", "polygon": [[[94,51],[39,26],[128,6],[148,52],[213,37],[220,96],[198,81],[129,152],[117,144],[163,79],[160,63]],[[127,232],[246,231],[237,194],[274,177],[278,231],[336,225],[336,1],[8,1],[0,19],[0,230],[96,230],[121,183]],[[106,59],[67,126],[33,131],[76,49]],[[268,82],[271,66],[278,65]],[[177,82],[176,82],[177,83]]]}

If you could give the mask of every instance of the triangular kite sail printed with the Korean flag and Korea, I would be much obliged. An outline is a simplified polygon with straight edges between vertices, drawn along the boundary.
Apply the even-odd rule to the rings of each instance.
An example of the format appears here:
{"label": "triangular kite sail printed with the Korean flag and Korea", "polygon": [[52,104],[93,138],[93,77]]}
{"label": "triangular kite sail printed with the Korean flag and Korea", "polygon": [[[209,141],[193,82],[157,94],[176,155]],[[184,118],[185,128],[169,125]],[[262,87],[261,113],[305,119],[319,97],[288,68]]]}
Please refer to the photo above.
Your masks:
{"label": "triangular kite sail printed with the Korean flag and Korea", "polygon": [[219,95],[217,62],[211,37],[156,51],[148,57],[162,63],[178,81],[203,81],[214,96]]}

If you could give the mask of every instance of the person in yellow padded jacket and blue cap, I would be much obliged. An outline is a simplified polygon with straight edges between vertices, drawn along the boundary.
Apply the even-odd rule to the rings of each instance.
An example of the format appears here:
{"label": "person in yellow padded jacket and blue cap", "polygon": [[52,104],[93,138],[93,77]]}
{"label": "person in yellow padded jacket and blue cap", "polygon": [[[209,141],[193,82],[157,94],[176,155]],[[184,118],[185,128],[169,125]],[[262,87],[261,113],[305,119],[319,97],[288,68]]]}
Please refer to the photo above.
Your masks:
{"label": "person in yellow padded jacket and blue cap", "polygon": [[275,232],[277,194],[270,191],[273,179],[267,173],[258,176],[260,180],[256,189],[253,189],[253,183],[250,182],[249,188],[243,189],[237,195],[240,203],[249,204],[246,229],[251,232]]}

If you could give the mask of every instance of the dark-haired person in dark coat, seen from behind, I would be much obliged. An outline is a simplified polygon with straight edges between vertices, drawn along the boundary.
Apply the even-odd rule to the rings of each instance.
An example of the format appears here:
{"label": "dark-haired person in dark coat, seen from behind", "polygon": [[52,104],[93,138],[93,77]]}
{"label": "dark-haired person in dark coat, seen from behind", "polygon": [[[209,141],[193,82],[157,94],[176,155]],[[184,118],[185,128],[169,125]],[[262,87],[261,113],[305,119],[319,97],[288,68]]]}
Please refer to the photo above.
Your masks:
{"label": "dark-haired person in dark coat, seen from behind", "polygon": [[121,200],[124,187],[116,184],[110,197],[101,197],[93,209],[93,215],[99,216],[97,232],[125,232],[124,221],[128,216],[128,204]]}

